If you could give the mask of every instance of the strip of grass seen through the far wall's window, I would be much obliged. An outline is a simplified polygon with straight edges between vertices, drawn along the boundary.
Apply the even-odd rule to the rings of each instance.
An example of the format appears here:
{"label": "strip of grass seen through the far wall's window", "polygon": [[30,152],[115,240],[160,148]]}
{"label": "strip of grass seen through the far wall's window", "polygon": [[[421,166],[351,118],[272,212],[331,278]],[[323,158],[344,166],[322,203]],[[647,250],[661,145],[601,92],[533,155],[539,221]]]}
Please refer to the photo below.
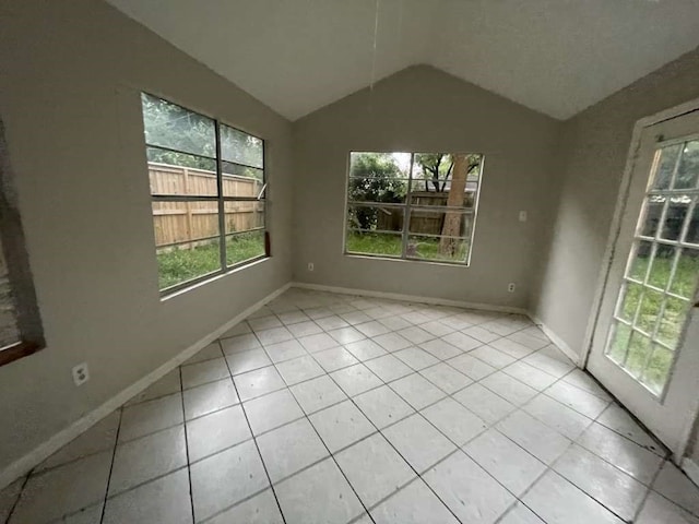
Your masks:
{"label": "strip of grass seen through the far wall's window", "polygon": [[[400,257],[402,254],[402,236],[400,233],[347,233],[346,249],[348,253],[378,254],[384,257]],[[411,236],[408,238],[410,258],[439,260],[449,262],[464,262],[467,253],[467,242],[458,241],[458,249],[453,255],[439,252],[439,238]]]}

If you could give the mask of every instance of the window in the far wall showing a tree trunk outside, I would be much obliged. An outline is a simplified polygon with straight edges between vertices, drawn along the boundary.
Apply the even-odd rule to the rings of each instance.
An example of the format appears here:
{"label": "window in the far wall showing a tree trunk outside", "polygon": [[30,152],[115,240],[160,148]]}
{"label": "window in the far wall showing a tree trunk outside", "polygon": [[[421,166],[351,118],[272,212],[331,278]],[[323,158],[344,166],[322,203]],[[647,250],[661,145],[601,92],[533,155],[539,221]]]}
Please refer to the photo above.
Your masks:
{"label": "window in the far wall showing a tree trunk outside", "polygon": [[345,253],[467,265],[483,159],[350,153]]}

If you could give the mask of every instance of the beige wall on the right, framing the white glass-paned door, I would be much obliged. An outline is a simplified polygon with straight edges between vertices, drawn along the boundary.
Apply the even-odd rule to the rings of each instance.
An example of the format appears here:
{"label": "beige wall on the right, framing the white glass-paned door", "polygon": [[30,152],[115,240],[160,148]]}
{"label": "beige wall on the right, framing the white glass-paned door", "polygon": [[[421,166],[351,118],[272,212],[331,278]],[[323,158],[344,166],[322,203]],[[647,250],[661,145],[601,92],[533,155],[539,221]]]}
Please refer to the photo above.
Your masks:
{"label": "beige wall on the right, framing the white glass-paned door", "polygon": [[572,350],[583,350],[612,217],[641,118],[699,97],[699,50],[671,62],[564,126],[560,194],[533,303],[537,317]]}

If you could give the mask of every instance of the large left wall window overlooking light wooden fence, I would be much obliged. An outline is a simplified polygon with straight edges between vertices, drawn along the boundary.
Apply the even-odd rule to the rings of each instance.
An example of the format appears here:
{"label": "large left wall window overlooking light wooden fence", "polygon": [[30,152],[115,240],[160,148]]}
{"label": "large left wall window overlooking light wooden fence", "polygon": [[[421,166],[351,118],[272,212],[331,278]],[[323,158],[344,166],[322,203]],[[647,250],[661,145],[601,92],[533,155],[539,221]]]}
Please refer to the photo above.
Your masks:
{"label": "large left wall window overlooking light wooden fence", "polygon": [[164,295],[269,255],[264,142],[143,94]]}

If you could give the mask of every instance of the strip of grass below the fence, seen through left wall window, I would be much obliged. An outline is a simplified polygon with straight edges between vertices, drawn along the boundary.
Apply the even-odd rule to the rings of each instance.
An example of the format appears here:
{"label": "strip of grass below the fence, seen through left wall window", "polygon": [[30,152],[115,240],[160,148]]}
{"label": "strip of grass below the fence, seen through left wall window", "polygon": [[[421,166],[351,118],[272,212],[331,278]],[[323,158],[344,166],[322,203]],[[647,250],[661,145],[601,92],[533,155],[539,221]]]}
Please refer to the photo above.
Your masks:
{"label": "strip of grass below the fence, seen through left wall window", "polygon": [[[248,233],[226,239],[226,263],[234,265],[264,254],[264,234]],[[221,269],[218,240],[193,249],[162,250],[157,253],[161,289],[181,284]]]}

